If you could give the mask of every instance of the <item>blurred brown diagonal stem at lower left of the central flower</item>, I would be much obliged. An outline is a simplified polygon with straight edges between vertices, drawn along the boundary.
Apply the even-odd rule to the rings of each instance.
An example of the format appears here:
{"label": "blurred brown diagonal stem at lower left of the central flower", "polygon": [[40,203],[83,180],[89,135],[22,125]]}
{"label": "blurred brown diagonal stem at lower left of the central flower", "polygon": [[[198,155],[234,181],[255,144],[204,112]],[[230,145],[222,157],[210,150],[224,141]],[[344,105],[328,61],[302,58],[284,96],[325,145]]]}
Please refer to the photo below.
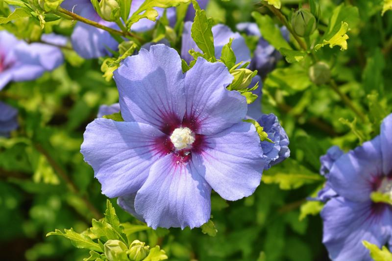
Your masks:
{"label": "blurred brown diagonal stem at lower left of the central flower", "polygon": [[[45,156],[45,158],[48,160],[50,166],[56,171],[56,173],[62,178],[65,183],[68,185],[68,189],[74,193],[78,194],[78,190],[76,185],[73,183],[73,181],[68,177],[67,173],[64,171],[64,169],[57,164],[57,162],[49,155],[48,151],[45,150],[41,144],[34,143],[34,147],[36,150],[38,150],[42,155]],[[97,219],[101,218],[102,215],[98,210],[94,207],[93,204],[91,204],[90,201],[87,200],[87,198],[80,196],[80,198],[83,200],[83,202],[86,204],[87,208],[91,211],[91,213],[97,217]]]}

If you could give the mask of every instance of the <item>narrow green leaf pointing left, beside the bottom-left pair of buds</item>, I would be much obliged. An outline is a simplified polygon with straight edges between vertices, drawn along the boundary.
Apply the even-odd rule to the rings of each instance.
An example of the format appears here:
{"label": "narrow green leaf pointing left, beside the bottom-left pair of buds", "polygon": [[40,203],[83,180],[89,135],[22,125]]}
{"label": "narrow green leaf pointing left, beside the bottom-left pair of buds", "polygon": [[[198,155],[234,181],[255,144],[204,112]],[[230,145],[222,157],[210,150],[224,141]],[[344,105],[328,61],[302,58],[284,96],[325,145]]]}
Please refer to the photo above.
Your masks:
{"label": "narrow green leaf pointing left, beside the bottom-left pair of buds", "polygon": [[89,250],[103,253],[103,249],[100,248],[99,244],[94,242],[90,237],[79,234],[73,231],[73,229],[64,229],[64,233],[56,229],[55,232],[50,232],[46,236],[58,235],[63,236],[71,240],[71,243],[77,248],[87,248]]}

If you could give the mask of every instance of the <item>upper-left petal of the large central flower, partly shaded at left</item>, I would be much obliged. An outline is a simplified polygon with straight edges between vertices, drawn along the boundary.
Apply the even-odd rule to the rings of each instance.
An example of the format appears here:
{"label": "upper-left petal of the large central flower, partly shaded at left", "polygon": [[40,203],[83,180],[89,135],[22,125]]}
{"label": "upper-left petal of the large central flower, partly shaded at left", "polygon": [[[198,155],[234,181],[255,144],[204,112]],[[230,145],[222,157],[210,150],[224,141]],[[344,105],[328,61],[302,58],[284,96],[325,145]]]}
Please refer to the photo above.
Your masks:
{"label": "upper-left petal of the large central flower, partly shaded at left", "polygon": [[184,79],[176,50],[165,45],[141,49],[114,71],[123,119],[161,130],[185,114]]}

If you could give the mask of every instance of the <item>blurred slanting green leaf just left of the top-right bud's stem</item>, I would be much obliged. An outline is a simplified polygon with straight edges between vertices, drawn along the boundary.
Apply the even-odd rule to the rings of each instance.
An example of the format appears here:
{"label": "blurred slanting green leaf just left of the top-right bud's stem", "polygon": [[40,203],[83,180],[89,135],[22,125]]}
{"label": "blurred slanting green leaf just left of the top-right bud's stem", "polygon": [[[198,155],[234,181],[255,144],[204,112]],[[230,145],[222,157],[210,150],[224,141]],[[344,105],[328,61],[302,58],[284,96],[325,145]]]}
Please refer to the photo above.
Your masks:
{"label": "blurred slanting green leaf just left of the top-right bud's stem", "polygon": [[263,38],[266,39],[271,46],[275,47],[277,50],[280,50],[280,48],[292,49],[286,39],[283,38],[279,27],[275,26],[275,23],[270,16],[262,15],[259,12],[252,12],[252,16],[259,26]]}

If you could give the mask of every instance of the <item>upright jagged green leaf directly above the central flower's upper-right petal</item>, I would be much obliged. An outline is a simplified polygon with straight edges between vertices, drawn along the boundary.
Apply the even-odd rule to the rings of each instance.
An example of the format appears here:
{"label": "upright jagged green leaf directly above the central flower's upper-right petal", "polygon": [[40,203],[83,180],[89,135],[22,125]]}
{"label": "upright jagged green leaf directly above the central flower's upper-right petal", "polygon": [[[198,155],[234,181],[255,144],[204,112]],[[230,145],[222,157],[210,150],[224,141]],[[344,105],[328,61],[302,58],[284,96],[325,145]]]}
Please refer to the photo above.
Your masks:
{"label": "upright jagged green leaf directly above the central flower's upper-right petal", "polygon": [[196,0],[193,0],[192,3],[196,14],[191,28],[191,36],[207,57],[215,62],[214,37],[212,35],[213,20],[207,18],[205,11],[200,9]]}

